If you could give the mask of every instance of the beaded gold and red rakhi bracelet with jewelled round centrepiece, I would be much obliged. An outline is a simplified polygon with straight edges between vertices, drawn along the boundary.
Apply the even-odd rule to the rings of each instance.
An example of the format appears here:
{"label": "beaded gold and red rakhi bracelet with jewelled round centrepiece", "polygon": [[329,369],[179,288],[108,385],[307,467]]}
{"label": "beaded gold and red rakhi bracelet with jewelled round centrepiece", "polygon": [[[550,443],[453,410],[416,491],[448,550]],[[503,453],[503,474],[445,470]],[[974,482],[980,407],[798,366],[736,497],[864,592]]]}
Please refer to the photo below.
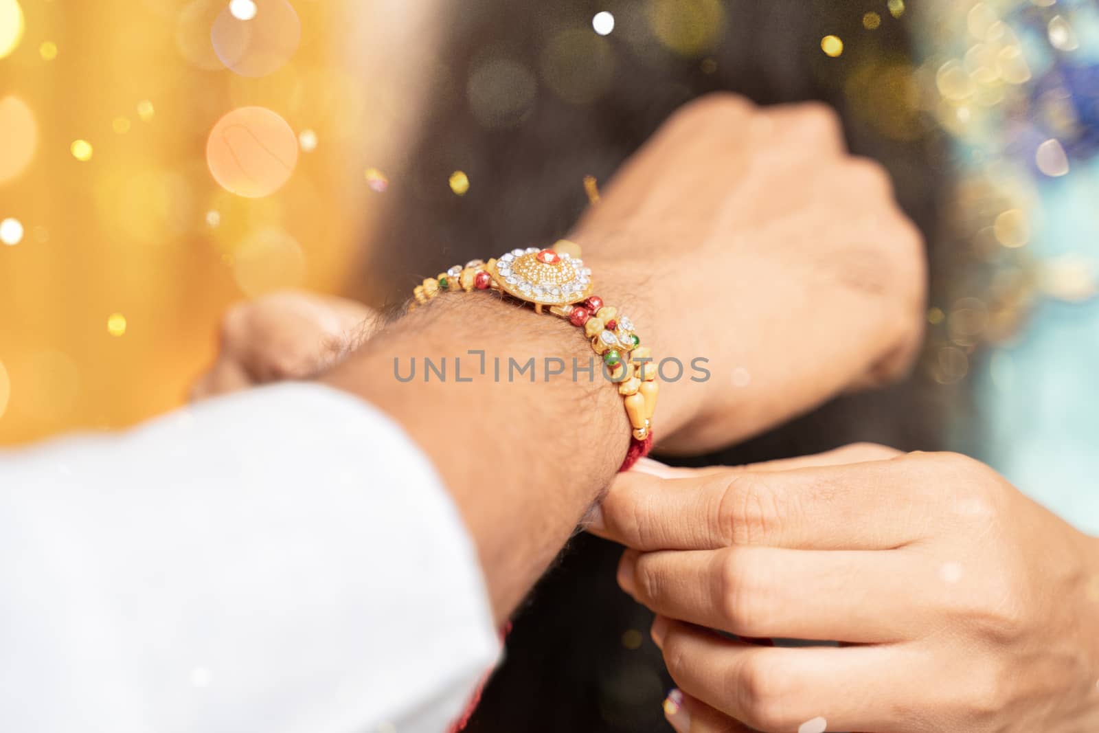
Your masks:
{"label": "beaded gold and red rakhi bracelet with jewelled round centrepiece", "polygon": [[417,286],[412,293],[415,301],[410,308],[442,292],[458,290],[495,290],[531,303],[537,313],[548,311],[581,329],[618,386],[633,429],[630,448],[619,470],[629,469],[648,455],[659,392],[652,349],[641,345],[629,316],[593,295],[591,269],[584,266],[579,245],[560,240],[550,249],[512,249],[487,263],[474,259],[465,266],[455,265]]}

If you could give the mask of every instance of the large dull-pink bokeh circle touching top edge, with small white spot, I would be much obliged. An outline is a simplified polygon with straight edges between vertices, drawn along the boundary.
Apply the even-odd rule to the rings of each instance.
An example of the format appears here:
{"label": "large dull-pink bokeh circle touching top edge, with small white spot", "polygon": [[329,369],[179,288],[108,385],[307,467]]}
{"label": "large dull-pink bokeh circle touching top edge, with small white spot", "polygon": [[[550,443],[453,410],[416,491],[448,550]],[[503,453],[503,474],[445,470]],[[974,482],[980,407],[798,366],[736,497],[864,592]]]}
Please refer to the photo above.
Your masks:
{"label": "large dull-pink bokeh circle touching top edge, with small white spot", "polygon": [[286,64],[301,42],[301,21],[287,0],[251,3],[255,12],[244,12],[240,0],[226,5],[213,22],[210,38],[218,58],[241,76],[260,77]]}

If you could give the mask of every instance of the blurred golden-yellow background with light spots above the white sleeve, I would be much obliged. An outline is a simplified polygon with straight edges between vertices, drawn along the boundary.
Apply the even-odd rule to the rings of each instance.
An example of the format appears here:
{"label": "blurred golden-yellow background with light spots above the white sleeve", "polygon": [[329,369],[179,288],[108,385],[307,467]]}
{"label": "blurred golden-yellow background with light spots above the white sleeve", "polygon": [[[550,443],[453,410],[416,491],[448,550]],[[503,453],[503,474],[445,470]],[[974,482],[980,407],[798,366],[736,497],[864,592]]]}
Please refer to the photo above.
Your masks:
{"label": "blurred golden-yellow background with light spots above the white sleeve", "polygon": [[[252,22],[274,3],[289,7],[258,0]],[[364,43],[356,3],[298,0],[299,26],[268,29],[274,42],[225,40],[237,70],[259,52],[259,71],[277,67],[244,76],[211,43],[226,4],[0,0],[0,444],[179,406],[231,303],[345,287],[387,169],[371,144],[402,122],[353,69],[387,48]],[[219,186],[207,162],[214,124],[248,107],[280,116],[297,153],[260,198]]]}

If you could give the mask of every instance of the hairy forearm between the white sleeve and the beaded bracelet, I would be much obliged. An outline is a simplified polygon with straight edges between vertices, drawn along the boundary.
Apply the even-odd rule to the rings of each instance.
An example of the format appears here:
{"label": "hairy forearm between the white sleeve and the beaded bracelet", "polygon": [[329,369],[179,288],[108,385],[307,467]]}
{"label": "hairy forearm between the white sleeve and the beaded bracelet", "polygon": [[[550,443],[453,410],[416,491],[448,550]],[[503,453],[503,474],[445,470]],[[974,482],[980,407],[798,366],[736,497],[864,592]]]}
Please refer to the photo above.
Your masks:
{"label": "hairy forearm between the white sleeve and the beaded bracelet", "polygon": [[[484,374],[481,355],[470,349],[484,351]],[[424,371],[425,357],[436,366],[445,357],[445,379]],[[530,371],[509,369],[509,359],[525,365],[531,358],[533,381]],[[564,374],[547,378],[547,358],[560,359]],[[593,365],[593,379],[586,371],[574,379],[574,358],[580,369]],[[402,378],[415,359],[414,378],[398,379],[395,359]],[[324,380],[388,412],[432,458],[503,619],[625,455],[630,424],[600,366],[564,320],[487,293],[449,295],[400,319]]]}

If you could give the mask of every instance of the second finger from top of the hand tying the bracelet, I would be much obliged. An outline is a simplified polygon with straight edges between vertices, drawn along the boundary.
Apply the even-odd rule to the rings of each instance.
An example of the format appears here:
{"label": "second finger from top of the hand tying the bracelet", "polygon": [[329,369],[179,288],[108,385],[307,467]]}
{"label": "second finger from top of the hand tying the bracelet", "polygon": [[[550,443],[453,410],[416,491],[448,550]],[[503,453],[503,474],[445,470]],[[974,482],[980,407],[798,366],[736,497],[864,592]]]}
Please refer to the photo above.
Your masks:
{"label": "second finger from top of the hand tying the bracelet", "polygon": [[740,636],[886,643],[911,637],[934,586],[903,573],[902,552],[628,549],[619,585],[660,615]]}

